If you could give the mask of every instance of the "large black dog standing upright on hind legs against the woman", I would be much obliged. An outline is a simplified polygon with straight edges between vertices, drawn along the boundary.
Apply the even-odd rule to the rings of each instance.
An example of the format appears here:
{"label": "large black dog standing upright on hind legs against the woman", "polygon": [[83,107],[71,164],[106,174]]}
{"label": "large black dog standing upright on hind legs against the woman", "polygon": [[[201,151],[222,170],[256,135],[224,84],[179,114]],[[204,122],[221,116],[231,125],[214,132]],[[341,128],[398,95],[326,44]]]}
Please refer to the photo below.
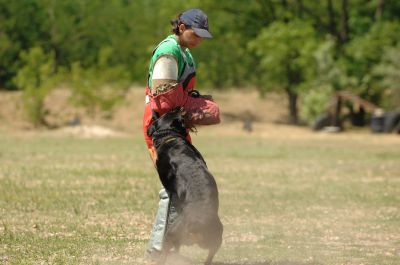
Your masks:
{"label": "large black dog standing upright on hind legs against the woman", "polygon": [[164,260],[181,245],[198,244],[208,249],[205,264],[222,243],[223,226],[218,217],[218,189],[200,152],[186,140],[183,109],[175,109],[154,120],[147,133],[157,149],[157,171],[170,195],[176,196],[177,218],[168,224]]}

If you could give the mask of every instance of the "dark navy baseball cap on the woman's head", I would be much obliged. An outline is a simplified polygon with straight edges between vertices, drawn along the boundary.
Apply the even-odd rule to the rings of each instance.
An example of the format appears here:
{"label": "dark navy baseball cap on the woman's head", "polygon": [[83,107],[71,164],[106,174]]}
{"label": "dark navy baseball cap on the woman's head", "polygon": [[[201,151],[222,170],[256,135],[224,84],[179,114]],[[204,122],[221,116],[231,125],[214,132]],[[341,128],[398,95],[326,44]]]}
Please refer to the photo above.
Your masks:
{"label": "dark navy baseball cap on the woman's head", "polygon": [[202,10],[197,8],[186,10],[181,14],[180,20],[183,24],[192,28],[197,36],[212,38],[211,33],[208,31],[207,15]]}

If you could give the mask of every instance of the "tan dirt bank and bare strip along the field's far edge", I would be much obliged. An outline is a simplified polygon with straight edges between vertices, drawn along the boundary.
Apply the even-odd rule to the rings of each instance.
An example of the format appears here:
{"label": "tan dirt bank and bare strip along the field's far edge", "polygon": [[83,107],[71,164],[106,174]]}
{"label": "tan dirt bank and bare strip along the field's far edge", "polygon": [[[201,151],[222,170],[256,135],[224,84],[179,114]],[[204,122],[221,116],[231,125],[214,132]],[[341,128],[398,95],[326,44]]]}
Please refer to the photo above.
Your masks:
{"label": "tan dirt bank and bare strip along the field's far edge", "polygon": [[[209,94],[204,91],[204,94]],[[308,127],[286,124],[286,96],[268,93],[260,97],[255,89],[231,89],[211,93],[221,110],[221,124],[199,126],[201,134],[257,135],[277,138],[354,138],[366,137],[373,142],[398,141],[398,136],[372,137],[368,128],[346,133],[311,131]],[[113,137],[141,135],[144,109],[144,89],[131,87],[112,113],[88,115],[84,108],[71,104],[71,93],[66,88],[53,90],[45,99],[46,121],[56,130],[34,128],[24,118],[21,92],[0,92],[0,131],[30,134],[40,131],[82,137]]]}

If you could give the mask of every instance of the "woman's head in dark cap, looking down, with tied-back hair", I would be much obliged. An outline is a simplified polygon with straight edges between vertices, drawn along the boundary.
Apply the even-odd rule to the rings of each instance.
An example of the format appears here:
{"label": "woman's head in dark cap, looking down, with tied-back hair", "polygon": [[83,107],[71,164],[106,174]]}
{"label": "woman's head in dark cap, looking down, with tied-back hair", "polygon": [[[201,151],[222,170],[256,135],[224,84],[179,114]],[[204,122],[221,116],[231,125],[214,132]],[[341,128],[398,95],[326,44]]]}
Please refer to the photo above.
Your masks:
{"label": "woman's head in dark cap, looking down, with tied-back hair", "polygon": [[203,38],[212,38],[208,31],[207,15],[200,9],[189,9],[171,21],[172,32],[179,38],[179,44],[194,48]]}

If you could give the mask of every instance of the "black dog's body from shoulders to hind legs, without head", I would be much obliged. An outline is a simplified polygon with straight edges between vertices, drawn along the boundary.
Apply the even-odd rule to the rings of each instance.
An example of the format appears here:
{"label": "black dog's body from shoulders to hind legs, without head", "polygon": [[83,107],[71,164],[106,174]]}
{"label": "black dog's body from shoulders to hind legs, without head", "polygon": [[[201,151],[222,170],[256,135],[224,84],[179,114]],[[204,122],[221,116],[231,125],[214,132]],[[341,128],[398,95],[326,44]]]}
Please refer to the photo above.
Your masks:
{"label": "black dog's body from shoulders to hind legs, without head", "polygon": [[199,151],[184,139],[160,151],[160,179],[180,203],[178,217],[166,232],[166,247],[196,243],[209,249],[206,264],[210,264],[221,246],[223,231],[215,179]]}

